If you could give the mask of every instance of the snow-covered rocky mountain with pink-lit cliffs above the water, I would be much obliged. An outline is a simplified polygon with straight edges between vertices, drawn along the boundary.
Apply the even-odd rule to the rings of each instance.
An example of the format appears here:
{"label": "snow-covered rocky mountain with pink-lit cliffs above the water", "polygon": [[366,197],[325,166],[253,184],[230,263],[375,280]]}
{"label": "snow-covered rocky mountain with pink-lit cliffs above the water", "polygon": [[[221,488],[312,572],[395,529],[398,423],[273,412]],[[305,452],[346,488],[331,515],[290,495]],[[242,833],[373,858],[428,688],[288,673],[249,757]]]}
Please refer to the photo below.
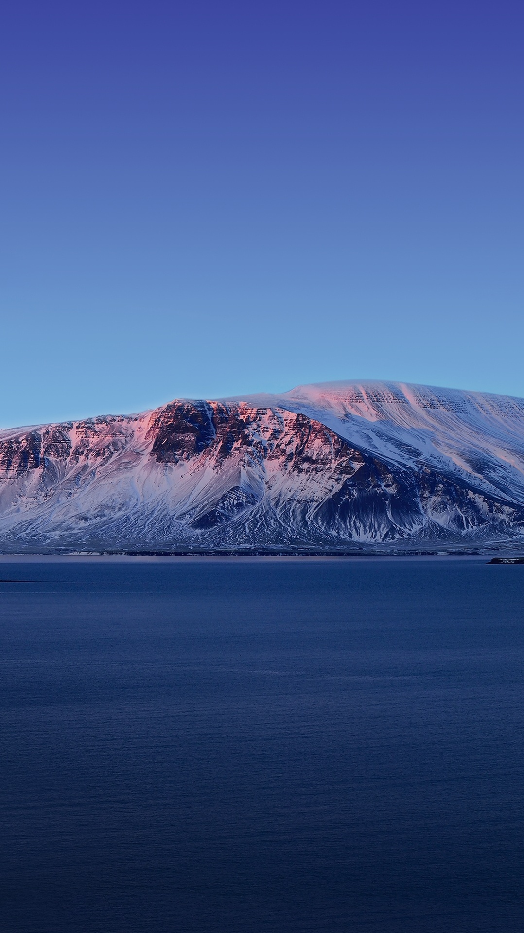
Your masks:
{"label": "snow-covered rocky mountain with pink-lit cliffs above the water", "polygon": [[0,432],[0,550],[524,543],[524,400],[400,383]]}

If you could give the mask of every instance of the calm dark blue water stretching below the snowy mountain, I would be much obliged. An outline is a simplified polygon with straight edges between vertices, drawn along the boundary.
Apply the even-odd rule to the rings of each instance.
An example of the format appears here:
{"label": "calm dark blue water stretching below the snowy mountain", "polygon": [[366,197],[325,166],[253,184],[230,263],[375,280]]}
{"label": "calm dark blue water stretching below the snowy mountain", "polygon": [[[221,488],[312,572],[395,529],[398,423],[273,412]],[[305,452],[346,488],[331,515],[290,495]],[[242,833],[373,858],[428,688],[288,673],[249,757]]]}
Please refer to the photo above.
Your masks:
{"label": "calm dark blue water stretching below the snowy mountain", "polygon": [[521,933],[524,567],[0,578],[7,933]]}

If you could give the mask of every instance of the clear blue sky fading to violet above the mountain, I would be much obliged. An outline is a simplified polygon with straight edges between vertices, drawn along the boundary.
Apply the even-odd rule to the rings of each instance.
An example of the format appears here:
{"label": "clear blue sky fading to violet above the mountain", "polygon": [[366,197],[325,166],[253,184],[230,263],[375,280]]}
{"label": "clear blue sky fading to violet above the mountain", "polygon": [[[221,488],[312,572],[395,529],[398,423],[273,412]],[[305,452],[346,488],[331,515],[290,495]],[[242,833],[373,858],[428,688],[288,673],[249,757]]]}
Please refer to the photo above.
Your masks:
{"label": "clear blue sky fading to violet above the mountain", "polygon": [[524,397],[523,39],[504,0],[4,5],[0,425]]}

